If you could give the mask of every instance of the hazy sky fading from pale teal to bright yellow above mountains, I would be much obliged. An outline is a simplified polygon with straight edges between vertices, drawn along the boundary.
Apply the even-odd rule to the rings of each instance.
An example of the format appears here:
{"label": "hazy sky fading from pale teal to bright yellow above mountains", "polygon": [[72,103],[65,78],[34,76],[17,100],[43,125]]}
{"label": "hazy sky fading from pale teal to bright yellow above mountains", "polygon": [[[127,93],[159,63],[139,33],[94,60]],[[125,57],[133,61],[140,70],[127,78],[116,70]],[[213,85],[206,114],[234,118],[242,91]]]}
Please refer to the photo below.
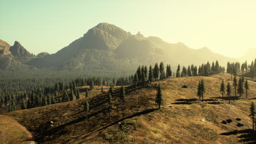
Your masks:
{"label": "hazy sky fading from pale teal to bright yellow above mountains", "polygon": [[136,34],[242,56],[256,47],[255,0],[1,0],[0,39],[55,53],[100,22]]}

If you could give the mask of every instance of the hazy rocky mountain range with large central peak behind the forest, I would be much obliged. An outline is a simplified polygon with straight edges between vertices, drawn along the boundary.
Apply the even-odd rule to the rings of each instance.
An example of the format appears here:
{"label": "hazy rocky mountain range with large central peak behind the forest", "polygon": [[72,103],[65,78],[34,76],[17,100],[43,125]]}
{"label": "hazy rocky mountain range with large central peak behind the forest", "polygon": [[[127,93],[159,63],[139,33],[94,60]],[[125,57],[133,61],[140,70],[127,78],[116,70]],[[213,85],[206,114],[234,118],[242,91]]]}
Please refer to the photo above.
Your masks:
{"label": "hazy rocky mountain range with large central peak behind the forest", "polygon": [[178,64],[201,65],[216,60],[223,66],[228,61],[238,61],[214,53],[207,47],[195,50],[183,43],[170,44],[158,37],[144,37],[139,32],[132,35],[109,23],[99,23],[89,29],[83,37],[51,55],[42,52],[34,56],[18,41],[10,46],[0,40],[2,69],[11,69],[19,65],[37,69],[84,70],[88,73],[100,71],[129,73],[138,65],[155,62],[170,63],[172,67],[177,67]]}

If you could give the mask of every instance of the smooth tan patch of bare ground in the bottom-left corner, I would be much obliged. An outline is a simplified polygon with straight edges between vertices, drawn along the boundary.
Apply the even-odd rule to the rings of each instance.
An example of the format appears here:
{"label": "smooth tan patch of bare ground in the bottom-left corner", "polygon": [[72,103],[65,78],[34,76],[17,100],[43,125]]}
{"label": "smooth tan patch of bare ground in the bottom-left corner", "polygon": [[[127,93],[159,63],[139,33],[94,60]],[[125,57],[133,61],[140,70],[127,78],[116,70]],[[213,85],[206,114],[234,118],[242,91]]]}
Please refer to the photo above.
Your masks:
{"label": "smooth tan patch of bare ground in the bottom-left corner", "polygon": [[0,115],[0,141],[2,143],[36,144],[32,134],[14,118]]}

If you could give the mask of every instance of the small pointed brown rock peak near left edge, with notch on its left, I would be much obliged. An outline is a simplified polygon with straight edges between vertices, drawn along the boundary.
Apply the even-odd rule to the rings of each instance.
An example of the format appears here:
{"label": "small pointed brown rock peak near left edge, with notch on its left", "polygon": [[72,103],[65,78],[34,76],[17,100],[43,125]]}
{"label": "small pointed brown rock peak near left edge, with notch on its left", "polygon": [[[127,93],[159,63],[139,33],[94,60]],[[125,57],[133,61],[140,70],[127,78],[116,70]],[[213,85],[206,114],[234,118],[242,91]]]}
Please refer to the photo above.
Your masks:
{"label": "small pointed brown rock peak near left edge, with notch on its left", "polygon": [[10,47],[9,51],[16,57],[30,57],[32,56],[18,41],[15,41],[14,45]]}

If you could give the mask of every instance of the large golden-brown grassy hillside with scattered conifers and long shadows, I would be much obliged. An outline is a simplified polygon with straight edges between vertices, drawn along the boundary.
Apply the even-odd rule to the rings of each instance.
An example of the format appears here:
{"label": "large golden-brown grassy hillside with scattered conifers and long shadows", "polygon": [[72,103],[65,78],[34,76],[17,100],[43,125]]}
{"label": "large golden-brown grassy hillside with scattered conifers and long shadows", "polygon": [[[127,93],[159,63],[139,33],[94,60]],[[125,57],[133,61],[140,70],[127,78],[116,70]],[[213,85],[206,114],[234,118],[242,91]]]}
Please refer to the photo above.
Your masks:
{"label": "large golden-brown grassy hillside with scattered conifers and long shadows", "polygon": [[[222,100],[219,92],[221,79],[228,83],[229,77],[181,77],[155,81],[148,88],[127,86],[126,103],[119,98],[120,88],[115,88],[110,124],[107,93],[102,94],[100,88],[90,91],[88,121],[84,97],[7,115],[31,131],[39,143],[253,143],[255,140],[249,139],[252,123],[248,112],[256,98],[256,82],[249,81],[248,98],[234,97],[233,91],[229,105],[226,95]],[[202,78],[206,86],[203,102],[196,96],[197,83]],[[157,110],[154,98],[159,82],[165,104]],[[105,88],[107,92],[108,87]],[[226,119],[232,122],[223,124]]]}

